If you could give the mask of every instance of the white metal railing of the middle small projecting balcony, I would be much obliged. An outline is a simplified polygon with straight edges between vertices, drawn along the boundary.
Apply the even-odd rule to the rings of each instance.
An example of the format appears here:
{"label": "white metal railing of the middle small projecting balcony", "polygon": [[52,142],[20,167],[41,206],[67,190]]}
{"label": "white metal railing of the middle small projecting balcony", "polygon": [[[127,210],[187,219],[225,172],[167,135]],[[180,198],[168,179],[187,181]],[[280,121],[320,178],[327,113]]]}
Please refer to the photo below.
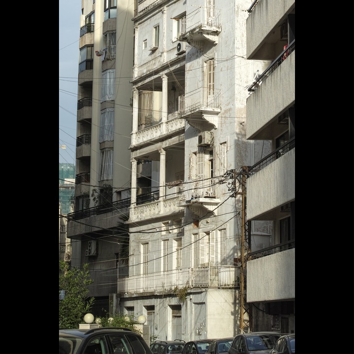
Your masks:
{"label": "white metal railing of the middle small projecting balcony", "polygon": [[202,87],[178,97],[178,111],[181,115],[205,108],[220,108],[220,89]]}

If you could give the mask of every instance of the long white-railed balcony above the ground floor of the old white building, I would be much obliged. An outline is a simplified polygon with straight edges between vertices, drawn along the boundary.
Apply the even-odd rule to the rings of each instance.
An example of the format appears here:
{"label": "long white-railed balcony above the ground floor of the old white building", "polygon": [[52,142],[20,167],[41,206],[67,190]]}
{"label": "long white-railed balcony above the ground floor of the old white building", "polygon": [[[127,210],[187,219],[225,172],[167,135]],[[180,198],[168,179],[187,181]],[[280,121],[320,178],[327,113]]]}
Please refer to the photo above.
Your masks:
{"label": "long white-railed balcony above the ground floor of the old white building", "polygon": [[176,288],[224,288],[239,287],[239,267],[206,266],[174,269],[148,274],[135,274],[118,278],[118,294],[170,292]]}

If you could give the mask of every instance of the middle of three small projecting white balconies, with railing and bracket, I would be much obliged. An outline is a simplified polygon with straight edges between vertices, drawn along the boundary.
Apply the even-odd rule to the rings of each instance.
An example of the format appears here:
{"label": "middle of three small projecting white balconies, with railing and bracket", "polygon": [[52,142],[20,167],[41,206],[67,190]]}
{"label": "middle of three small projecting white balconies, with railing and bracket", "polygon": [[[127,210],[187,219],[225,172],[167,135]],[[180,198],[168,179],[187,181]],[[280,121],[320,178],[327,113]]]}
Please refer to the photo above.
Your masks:
{"label": "middle of three small projecting white balconies, with railing and bracket", "polygon": [[202,87],[178,97],[180,118],[185,118],[195,128],[216,129],[220,108],[220,89]]}

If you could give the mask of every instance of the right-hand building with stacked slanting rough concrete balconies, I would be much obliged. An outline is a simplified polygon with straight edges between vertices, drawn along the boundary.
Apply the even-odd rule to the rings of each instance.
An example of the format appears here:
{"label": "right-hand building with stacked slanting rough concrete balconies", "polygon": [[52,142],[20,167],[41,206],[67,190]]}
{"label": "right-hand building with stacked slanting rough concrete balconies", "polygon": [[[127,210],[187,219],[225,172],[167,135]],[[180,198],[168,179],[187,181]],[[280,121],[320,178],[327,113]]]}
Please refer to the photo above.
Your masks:
{"label": "right-hand building with stacked slanting rough concrete balconies", "polygon": [[[295,0],[259,0],[249,8],[247,59],[270,60],[248,88],[247,139],[272,150],[249,168],[248,220],[271,220],[273,246],[251,252],[247,302],[271,328],[295,332]],[[276,276],[274,276],[276,274]],[[261,321],[257,327],[262,327]]]}

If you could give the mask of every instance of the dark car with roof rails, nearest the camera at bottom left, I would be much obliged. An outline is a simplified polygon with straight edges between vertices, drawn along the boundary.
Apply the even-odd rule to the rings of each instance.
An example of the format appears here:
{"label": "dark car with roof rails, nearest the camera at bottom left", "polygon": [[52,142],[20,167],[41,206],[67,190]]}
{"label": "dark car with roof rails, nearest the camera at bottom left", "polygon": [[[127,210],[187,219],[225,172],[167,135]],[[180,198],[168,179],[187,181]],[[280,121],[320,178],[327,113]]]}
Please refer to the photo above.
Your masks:
{"label": "dark car with roof rails, nearest the camera at bottom left", "polygon": [[124,327],[59,329],[59,354],[152,354],[148,343]]}

